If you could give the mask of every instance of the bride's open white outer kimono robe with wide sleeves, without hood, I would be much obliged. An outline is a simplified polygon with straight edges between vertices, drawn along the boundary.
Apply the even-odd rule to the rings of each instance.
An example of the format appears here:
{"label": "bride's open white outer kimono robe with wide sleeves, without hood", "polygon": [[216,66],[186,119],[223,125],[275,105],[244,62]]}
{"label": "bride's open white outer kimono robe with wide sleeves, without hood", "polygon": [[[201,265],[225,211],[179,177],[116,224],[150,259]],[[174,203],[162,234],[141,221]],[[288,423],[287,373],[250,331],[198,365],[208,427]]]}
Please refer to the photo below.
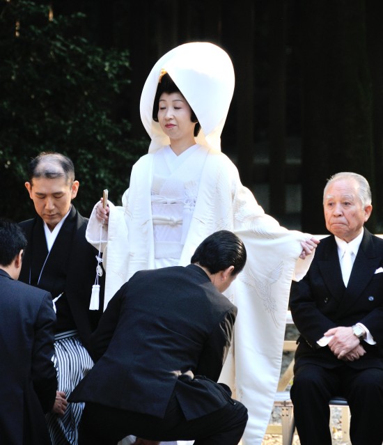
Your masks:
{"label": "bride's open white outer kimono robe with wide sleeves, without hood", "polygon": [[[297,260],[302,251],[300,241],[310,235],[288,231],[265,214],[253,194],[241,184],[235,165],[226,155],[211,148],[194,146],[194,149],[195,153],[178,167],[180,171],[175,171],[179,178],[185,178],[188,165],[193,169],[196,163],[202,164],[195,207],[187,223],[189,230],[180,235],[181,239],[185,237],[182,240],[185,244],[178,264],[188,265],[198,244],[222,229],[236,233],[247,248],[247,265],[225,292],[238,307],[238,315],[234,347],[220,381],[229,384],[235,397],[249,409],[242,442],[256,445],[262,442],[279,380],[290,282],[294,273],[296,279],[301,279],[311,263],[311,258],[299,260],[303,268],[297,273]],[[102,232],[102,250],[107,247],[104,251],[105,304],[134,272],[155,268],[155,251],[163,249],[161,244],[156,249],[153,231],[156,155],[157,152],[145,155],[134,165],[123,206],[109,203],[109,229],[104,228]],[[187,185],[190,183],[189,178],[185,178],[187,210],[190,206]],[[195,188],[193,181],[191,188]],[[179,225],[177,219],[169,218],[169,221],[169,226]],[[99,247],[100,222],[95,210],[86,237]],[[174,251],[176,256],[177,249]]]}

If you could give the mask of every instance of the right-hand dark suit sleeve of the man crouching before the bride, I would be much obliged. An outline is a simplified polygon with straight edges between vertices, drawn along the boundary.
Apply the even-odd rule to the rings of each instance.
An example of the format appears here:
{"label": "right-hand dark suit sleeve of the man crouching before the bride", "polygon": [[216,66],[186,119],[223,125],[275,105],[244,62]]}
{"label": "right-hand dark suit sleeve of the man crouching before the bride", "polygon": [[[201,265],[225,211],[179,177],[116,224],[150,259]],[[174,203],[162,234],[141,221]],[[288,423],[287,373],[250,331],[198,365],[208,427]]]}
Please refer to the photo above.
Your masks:
{"label": "right-hand dark suit sleeve of the man crouching before the bride", "polygon": [[214,382],[218,381],[233,338],[236,316],[237,308],[233,306],[219,322],[219,325],[214,327],[201,353],[196,375],[205,375]]}

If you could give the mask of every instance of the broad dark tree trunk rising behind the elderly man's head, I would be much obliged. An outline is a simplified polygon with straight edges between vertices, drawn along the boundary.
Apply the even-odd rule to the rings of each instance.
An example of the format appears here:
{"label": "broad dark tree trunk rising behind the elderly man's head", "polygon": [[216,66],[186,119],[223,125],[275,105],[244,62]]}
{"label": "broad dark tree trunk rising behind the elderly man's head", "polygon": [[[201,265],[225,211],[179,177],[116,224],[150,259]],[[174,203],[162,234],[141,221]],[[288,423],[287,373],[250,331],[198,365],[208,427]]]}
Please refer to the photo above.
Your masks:
{"label": "broad dark tree trunk rising behind the elderly man's head", "polygon": [[302,1],[302,228],[326,233],[322,194],[339,171],[373,186],[364,0]]}

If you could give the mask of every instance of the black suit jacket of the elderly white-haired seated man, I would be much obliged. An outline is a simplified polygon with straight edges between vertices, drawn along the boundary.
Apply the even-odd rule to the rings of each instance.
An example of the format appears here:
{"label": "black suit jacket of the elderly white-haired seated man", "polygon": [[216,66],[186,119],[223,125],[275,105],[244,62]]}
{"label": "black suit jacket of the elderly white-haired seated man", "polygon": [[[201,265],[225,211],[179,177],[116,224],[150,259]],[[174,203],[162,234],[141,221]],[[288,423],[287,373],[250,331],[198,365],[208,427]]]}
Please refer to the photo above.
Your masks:
{"label": "black suit jacket of the elderly white-haired seated man", "polygon": [[[365,228],[347,288],[343,283],[333,235],[321,240],[302,281],[292,283],[290,309],[299,329],[295,367],[305,363],[329,368],[383,368],[383,240]],[[362,341],[367,354],[355,361],[338,360],[316,343],[332,327],[363,323],[377,345]]]}

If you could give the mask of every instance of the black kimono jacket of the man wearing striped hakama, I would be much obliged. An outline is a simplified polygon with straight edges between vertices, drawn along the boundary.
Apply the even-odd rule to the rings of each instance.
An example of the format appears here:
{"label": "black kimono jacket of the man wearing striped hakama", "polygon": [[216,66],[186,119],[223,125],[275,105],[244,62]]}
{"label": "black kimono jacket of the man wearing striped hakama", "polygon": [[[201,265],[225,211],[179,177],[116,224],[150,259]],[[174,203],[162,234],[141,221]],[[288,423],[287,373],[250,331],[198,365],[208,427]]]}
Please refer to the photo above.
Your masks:
{"label": "black kimono jacket of the man wearing striped hakama", "polygon": [[[100,278],[100,310],[89,311],[92,286],[95,283],[97,251],[86,241],[87,224],[88,219],[81,217],[72,205],[49,253],[38,287],[48,290],[53,298],[65,292],[75,327],[88,349],[89,337],[100,320],[104,306],[104,276]],[[48,254],[44,222],[36,217],[19,225],[28,241],[19,280],[31,283],[31,268],[35,262],[42,264]]]}

